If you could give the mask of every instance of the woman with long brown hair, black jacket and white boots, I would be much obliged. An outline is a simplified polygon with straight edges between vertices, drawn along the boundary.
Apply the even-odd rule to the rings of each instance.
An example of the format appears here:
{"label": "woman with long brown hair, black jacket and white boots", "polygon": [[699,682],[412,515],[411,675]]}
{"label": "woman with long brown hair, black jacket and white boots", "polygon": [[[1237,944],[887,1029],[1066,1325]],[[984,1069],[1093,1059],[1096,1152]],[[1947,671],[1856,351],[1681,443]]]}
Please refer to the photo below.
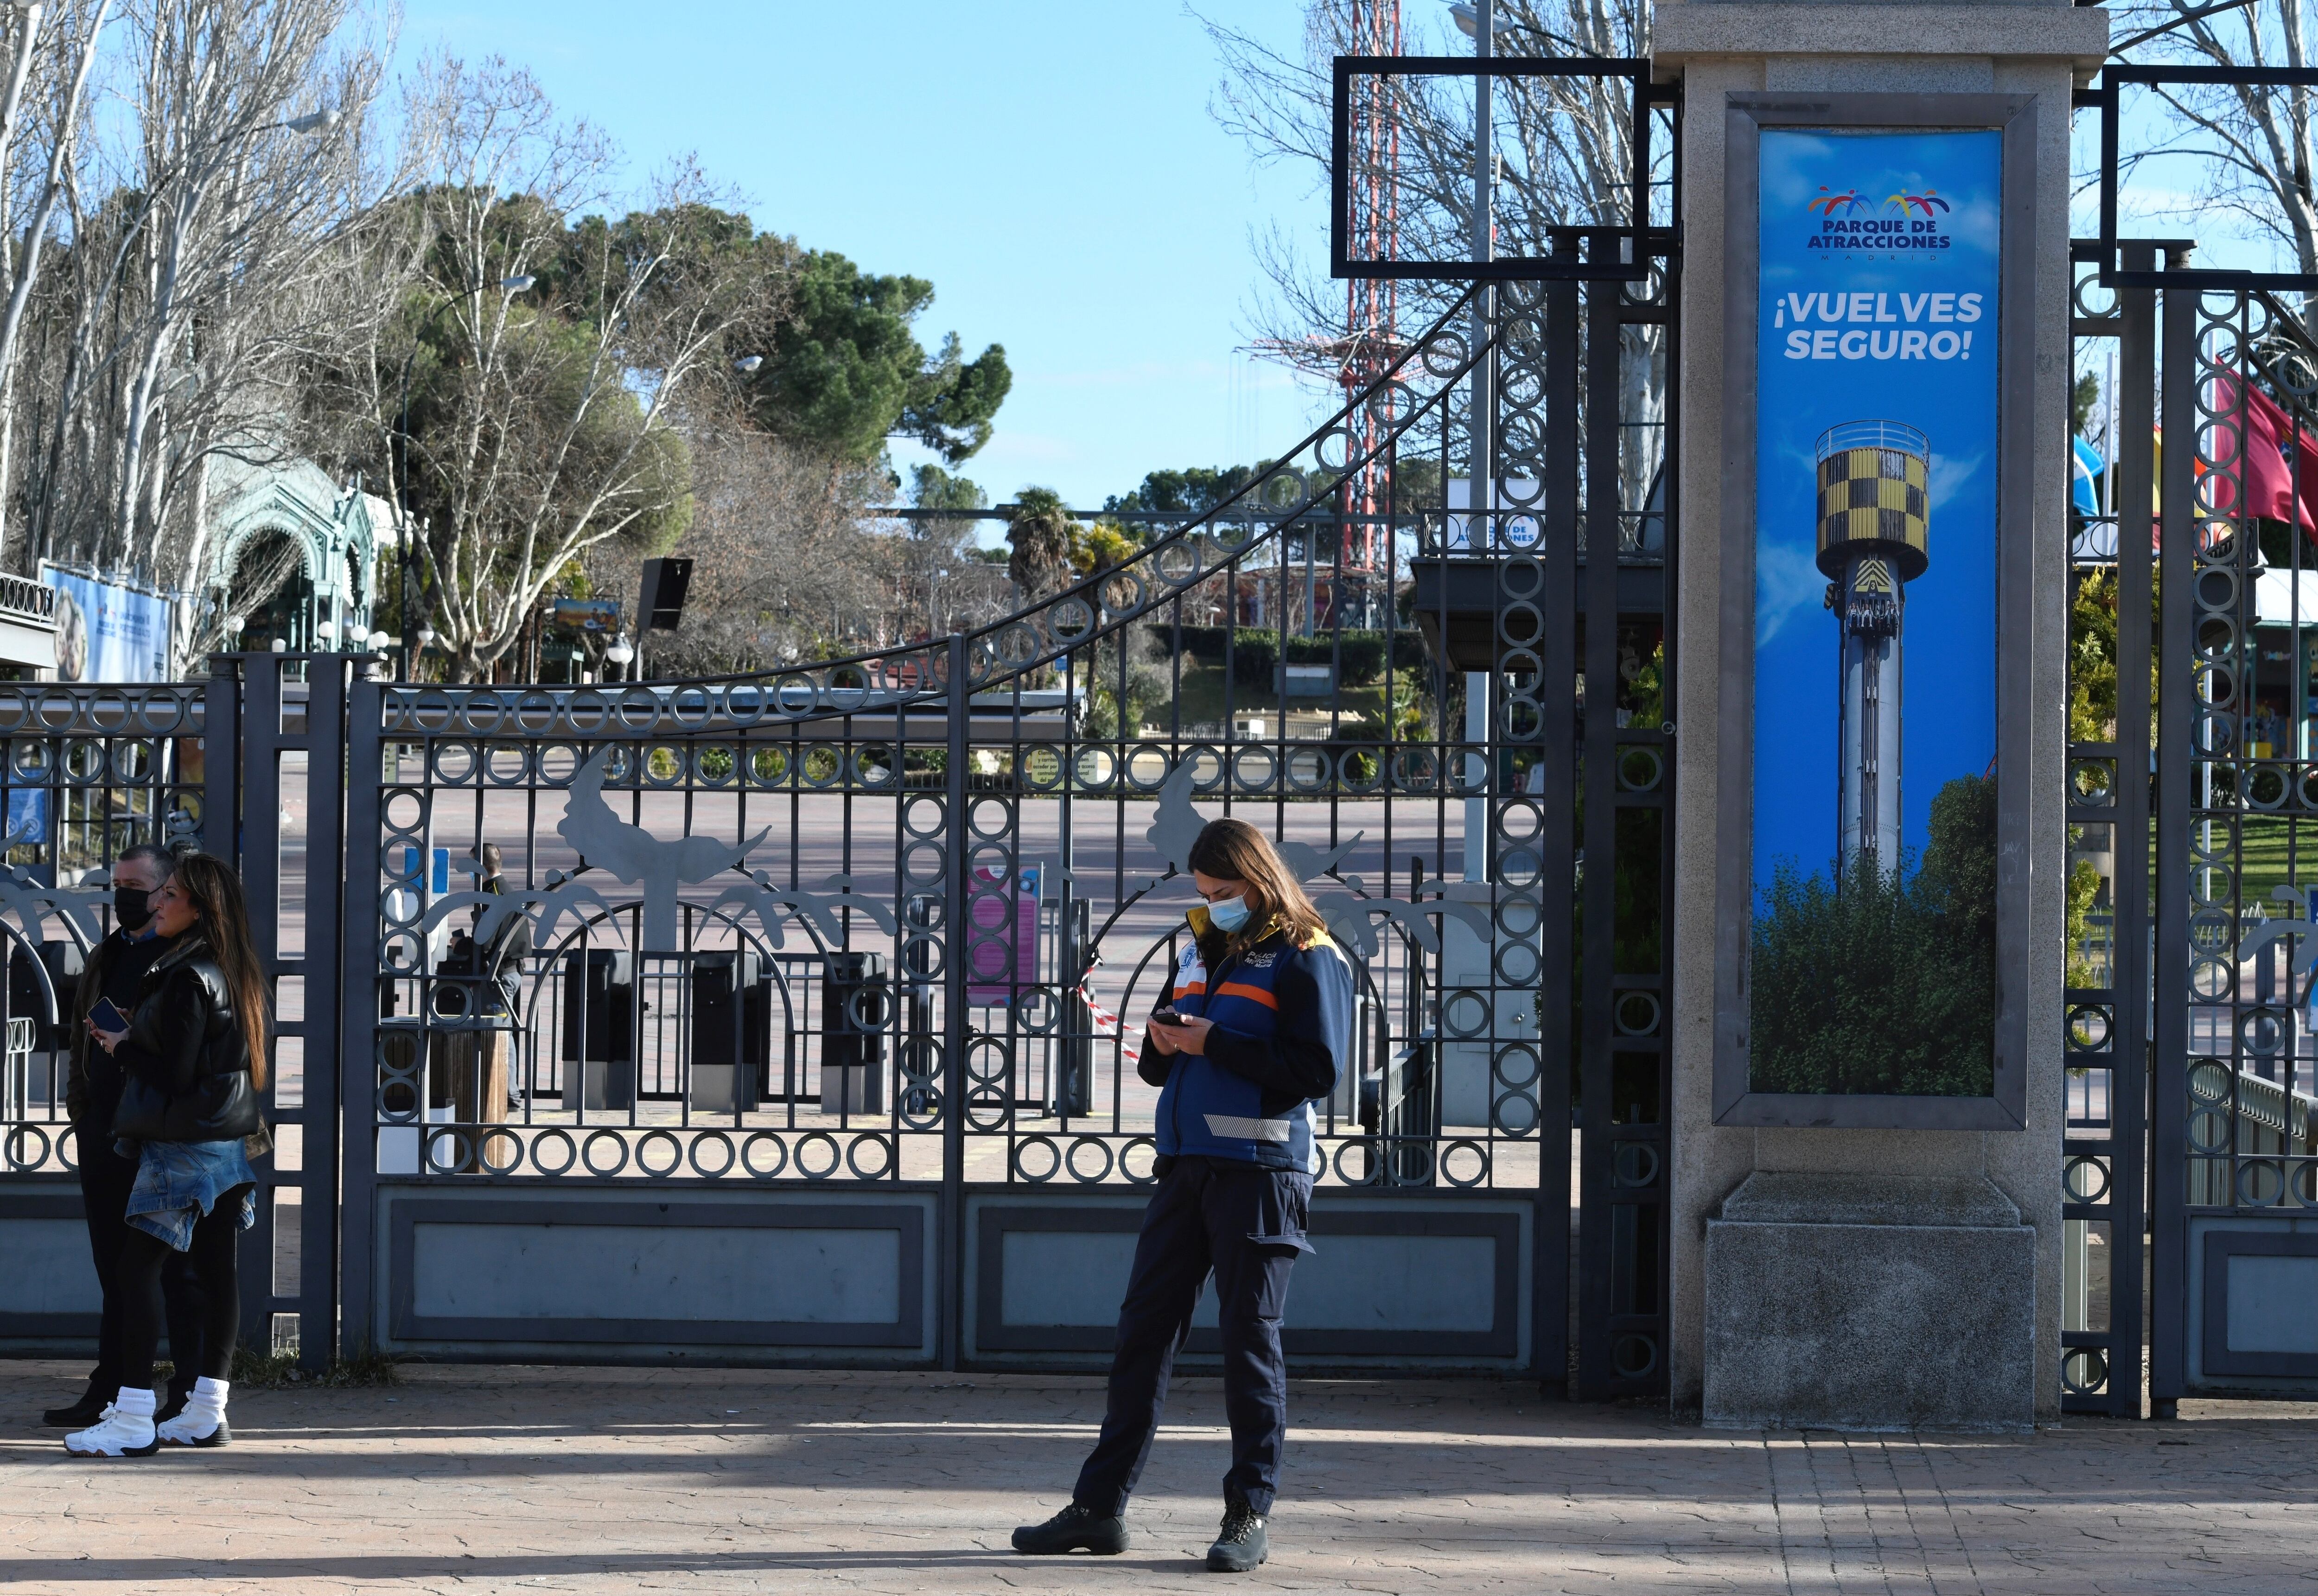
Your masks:
{"label": "woman with long brown hair, black jacket and white boots", "polygon": [[[241,878],[206,852],[176,862],[153,894],[153,924],[169,950],[139,982],[127,1028],[88,1033],[123,1068],[114,1114],[123,1158],[137,1161],[130,1237],[121,1249],[121,1394],[90,1429],[65,1436],[83,1457],[146,1457],[162,1441],[227,1445],[227,1374],[241,1339],[234,1246],[255,1218],[257,1174],[246,1137],[264,1128],[269,987],[250,945]],[[185,1411],[153,1425],[153,1348],[160,1341],[160,1272],[190,1253],[206,1297],[202,1376]]]}

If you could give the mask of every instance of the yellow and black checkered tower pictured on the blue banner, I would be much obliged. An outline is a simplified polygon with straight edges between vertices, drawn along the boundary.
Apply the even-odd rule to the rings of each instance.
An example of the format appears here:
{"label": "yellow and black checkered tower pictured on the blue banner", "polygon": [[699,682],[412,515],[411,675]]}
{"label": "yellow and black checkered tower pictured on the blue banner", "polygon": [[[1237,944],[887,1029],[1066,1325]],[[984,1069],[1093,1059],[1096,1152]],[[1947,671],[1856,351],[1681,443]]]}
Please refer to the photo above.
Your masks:
{"label": "yellow and black checkered tower pictured on the blue banner", "polygon": [[1845,422],[1820,435],[1820,570],[1843,628],[1836,834],[1847,871],[1861,850],[1898,866],[1901,612],[1931,565],[1931,445],[1901,422]]}

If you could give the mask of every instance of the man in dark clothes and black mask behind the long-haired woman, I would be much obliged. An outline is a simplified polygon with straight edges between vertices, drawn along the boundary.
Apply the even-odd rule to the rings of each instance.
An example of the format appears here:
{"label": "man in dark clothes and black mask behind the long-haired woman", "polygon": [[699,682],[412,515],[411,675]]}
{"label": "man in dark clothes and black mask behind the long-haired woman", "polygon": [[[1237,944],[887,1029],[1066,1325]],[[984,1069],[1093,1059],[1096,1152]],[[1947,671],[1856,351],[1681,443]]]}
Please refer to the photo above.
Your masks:
{"label": "man in dark clothes and black mask behind the long-haired woman", "polygon": [[[123,1214],[130,1202],[130,1186],[137,1184],[137,1161],[114,1151],[114,1110],[121,1107],[121,1066],[102,1049],[90,1047],[81,1017],[111,998],[123,1015],[137,1008],[137,982],[153,961],[169,950],[153,934],[153,910],[148,899],[169,880],[172,857],[167,848],[139,843],[114,859],[114,934],[97,943],[81,971],[79,989],[67,998],[70,1012],[60,1012],[58,1028],[72,1038],[72,1070],[65,1077],[65,1107],[72,1112],[72,1140],[81,1163],[81,1207],[88,1211],[88,1253],[97,1265],[97,1286],[104,1290],[104,1318],[97,1325],[97,1367],[88,1376],[88,1394],[70,1408],[49,1408],[44,1425],[83,1429],[95,1425],[104,1404],[121,1390],[121,1304],[114,1293],[121,1244],[127,1237]],[[63,994],[60,994],[63,996]],[[63,1008],[63,1005],[60,1005]],[[185,1406],[195,1376],[202,1371],[202,1288],[192,1279],[192,1267],[183,1253],[174,1253],[160,1276],[162,1302],[169,1318],[169,1399],[155,1413],[155,1422],[176,1418]]]}

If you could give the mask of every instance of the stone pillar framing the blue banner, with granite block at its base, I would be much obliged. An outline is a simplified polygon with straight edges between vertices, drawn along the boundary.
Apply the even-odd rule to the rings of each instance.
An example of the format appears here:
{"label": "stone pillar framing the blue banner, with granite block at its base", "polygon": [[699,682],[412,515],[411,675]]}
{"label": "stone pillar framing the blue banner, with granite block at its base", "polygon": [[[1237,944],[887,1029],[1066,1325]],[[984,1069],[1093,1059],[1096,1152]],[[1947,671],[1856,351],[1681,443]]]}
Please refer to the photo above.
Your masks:
{"label": "stone pillar framing the blue banner, with granite block at its base", "polygon": [[[2107,16],[2005,5],[1660,0],[1683,83],[1683,368],[1674,1237],[1669,1374],[1708,1422],[2026,1425],[2061,1401],[2070,90]],[[1725,102],[1764,93],[2035,95],[2035,579],[2026,658],[2031,910],[2026,1123],[2003,1130],[1715,1123]],[[1732,222],[1734,227],[1741,222]],[[2017,639],[2014,639],[2017,642]],[[2017,658],[2017,656],[2014,656]],[[1732,771],[1745,781],[1745,771]]]}

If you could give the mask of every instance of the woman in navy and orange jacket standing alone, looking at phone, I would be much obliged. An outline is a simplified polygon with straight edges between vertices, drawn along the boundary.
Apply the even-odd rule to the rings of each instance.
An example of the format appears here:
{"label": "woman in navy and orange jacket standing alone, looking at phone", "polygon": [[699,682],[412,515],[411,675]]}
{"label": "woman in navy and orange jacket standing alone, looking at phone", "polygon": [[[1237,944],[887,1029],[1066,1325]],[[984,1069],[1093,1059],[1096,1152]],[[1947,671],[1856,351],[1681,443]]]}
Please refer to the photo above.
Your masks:
{"label": "woman in navy and orange jacket standing alone, looking at phone", "polygon": [[1071,1506],[1015,1531],[1018,1552],[1124,1552],[1175,1350],[1215,1272],[1231,1473],[1208,1568],[1268,1554],[1286,1441],[1280,1313],[1305,1242],[1312,1103],[1351,1056],[1351,964],[1263,832],[1217,820],[1191,845],[1191,945],[1152,1015],[1140,1075],[1159,1093],[1159,1188],[1120,1304],[1103,1432]]}

